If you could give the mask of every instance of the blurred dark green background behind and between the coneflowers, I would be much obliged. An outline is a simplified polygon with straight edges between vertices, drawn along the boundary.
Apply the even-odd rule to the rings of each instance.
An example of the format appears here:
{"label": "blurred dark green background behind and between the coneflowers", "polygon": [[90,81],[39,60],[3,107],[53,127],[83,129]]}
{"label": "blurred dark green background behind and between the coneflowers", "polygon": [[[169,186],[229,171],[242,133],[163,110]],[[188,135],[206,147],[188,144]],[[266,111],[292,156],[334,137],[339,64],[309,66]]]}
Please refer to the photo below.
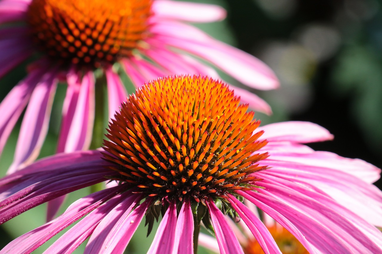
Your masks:
{"label": "blurred dark green background behind and between the coneflowers", "polygon": [[[257,113],[263,124],[311,121],[329,129],[334,141],[311,144],[316,150],[364,159],[382,167],[382,3],[377,0],[199,0],[223,6],[222,22],[197,24],[213,37],[235,45],[267,63],[281,87],[254,91],[274,111]],[[0,99],[25,75],[25,65],[0,80]],[[237,84],[232,79],[223,79]],[[131,91],[131,84],[127,84]],[[55,151],[65,85],[57,90],[49,134],[41,157]],[[99,123],[104,125],[105,123]],[[5,175],[15,150],[20,123],[0,159]],[[102,135],[98,135],[99,143]],[[376,185],[381,188],[381,182]],[[68,196],[67,207],[90,193]],[[64,211],[63,209],[62,211]],[[0,227],[0,247],[44,223],[45,206],[19,215]],[[146,238],[141,225],[128,246],[129,253],[146,253],[153,233]],[[57,237],[56,237],[57,238]],[[51,240],[52,241],[52,240]],[[50,242],[51,242],[50,241]],[[53,238],[54,241],[54,238]],[[45,244],[49,246],[49,242]],[[83,252],[83,246],[78,253]],[[40,248],[44,249],[44,248]],[[40,253],[41,250],[36,251]],[[201,251],[200,253],[206,253]]]}

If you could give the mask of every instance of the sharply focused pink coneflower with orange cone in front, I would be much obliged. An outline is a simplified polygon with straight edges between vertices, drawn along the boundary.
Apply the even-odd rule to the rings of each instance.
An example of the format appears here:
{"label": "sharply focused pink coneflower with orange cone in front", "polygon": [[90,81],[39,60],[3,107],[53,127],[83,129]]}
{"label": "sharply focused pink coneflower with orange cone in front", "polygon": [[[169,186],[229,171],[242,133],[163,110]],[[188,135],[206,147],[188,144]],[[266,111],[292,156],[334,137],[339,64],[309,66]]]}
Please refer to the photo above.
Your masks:
{"label": "sharply focused pink coneflower with orange cone in front", "polygon": [[[242,220],[265,253],[281,253],[248,203],[310,253],[380,253],[382,192],[369,183],[380,170],[302,145],[332,138],[315,124],[259,127],[239,102],[227,85],[202,76],[143,85],[115,114],[104,150],[57,154],[0,180],[1,222],[105,179],[118,182],[0,253],[29,253],[83,216],[46,252],[69,253],[89,238],[85,253],[123,253],[142,218],[150,231],[161,214],[149,253],[194,253],[201,224],[221,253],[243,253],[227,215]],[[347,201],[337,199],[342,192]]]}

